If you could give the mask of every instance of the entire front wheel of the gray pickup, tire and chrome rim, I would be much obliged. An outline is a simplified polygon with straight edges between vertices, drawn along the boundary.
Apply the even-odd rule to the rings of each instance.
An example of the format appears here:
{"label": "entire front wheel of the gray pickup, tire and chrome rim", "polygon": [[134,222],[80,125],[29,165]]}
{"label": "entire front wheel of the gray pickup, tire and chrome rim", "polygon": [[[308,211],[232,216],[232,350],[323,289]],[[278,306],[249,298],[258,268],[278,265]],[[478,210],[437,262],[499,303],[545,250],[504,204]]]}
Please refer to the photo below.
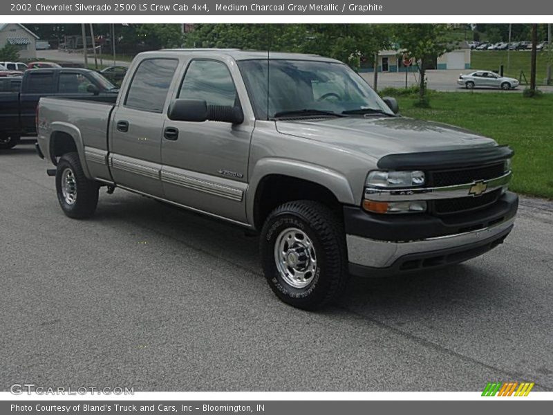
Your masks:
{"label": "entire front wheel of the gray pickup, tire and chrome rim", "polygon": [[284,203],[265,221],[260,239],[263,273],[286,304],[321,308],[342,291],[348,278],[341,221],[314,201]]}

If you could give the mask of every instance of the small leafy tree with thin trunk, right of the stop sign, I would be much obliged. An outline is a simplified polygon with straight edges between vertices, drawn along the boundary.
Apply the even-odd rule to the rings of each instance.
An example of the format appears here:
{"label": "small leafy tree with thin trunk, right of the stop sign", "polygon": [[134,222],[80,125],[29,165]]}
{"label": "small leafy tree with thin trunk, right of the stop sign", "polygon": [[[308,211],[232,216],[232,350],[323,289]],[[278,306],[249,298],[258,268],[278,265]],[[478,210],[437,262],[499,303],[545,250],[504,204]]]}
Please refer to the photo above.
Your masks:
{"label": "small leafy tree with thin trunk, right of the stop sign", "polygon": [[418,62],[420,74],[419,104],[428,105],[426,65],[448,52],[453,44],[447,40],[445,24],[402,24],[397,26],[395,39],[399,49]]}

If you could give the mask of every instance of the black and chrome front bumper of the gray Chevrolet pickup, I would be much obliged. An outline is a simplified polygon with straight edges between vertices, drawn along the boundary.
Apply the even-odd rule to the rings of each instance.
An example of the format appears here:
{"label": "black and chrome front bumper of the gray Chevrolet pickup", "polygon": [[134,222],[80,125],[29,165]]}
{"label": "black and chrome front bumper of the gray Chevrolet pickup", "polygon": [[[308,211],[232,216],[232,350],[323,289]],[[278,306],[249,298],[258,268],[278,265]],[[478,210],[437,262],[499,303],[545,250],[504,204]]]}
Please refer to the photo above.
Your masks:
{"label": "black and chrome front bumper of the gray Chevrolet pickup", "polygon": [[[366,223],[361,226],[362,216],[358,212],[355,215],[351,214],[353,211],[345,212],[350,273],[388,275],[438,268],[477,257],[503,242],[514,226],[517,208],[518,196],[507,192],[492,208],[453,223],[429,215],[390,218],[391,215],[362,212]],[[395,219],[401,219],[400,223],[395,223]],[[388,227],[386,223],[393,225]]]}

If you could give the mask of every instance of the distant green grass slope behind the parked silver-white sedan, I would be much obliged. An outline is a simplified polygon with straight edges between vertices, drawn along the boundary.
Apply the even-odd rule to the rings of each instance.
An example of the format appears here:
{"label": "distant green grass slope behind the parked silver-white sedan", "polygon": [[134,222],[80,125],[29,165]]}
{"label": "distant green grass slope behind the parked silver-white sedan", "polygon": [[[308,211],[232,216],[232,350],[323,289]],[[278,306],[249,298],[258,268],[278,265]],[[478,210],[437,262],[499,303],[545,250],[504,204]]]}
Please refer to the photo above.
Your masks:
{"label": "distant green grass slope behind the parked silver-white sedan", "polygon": [[[518,79],[523,71],[526,79],[530,82],[530,55],[532,54],[529,50],[510,50],[509,66],[507,67],[507,50],[473,50],[471,68],[499,71],[499,67],[503,65],[505,76]],[[547,57],[547,50],[538,51],[536,57],[536,84],[538,85],[543,85],[543,80],[547,76]],[[551,59],[553,59],[553,52]]]}

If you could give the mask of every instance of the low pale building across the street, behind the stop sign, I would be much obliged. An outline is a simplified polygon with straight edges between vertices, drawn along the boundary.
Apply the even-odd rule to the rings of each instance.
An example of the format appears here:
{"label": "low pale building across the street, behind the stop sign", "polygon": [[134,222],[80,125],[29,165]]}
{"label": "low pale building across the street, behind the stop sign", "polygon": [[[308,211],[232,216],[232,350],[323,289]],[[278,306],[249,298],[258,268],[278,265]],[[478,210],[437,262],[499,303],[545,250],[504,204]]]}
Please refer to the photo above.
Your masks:
{"label": "low pale building across the street, behind the stop sign", "polygon": [[[470,69],[471,48],[467,42],[461,42],[456,49],[444,53],[437,59],[427,62],[427,69]],[[378,53],[378,72],[415,72],[418,71],[416,64],[404,66],[402,50],[381,50]],[[361,62],[360,72],[373,72],[372,59]]]}

